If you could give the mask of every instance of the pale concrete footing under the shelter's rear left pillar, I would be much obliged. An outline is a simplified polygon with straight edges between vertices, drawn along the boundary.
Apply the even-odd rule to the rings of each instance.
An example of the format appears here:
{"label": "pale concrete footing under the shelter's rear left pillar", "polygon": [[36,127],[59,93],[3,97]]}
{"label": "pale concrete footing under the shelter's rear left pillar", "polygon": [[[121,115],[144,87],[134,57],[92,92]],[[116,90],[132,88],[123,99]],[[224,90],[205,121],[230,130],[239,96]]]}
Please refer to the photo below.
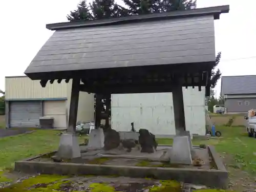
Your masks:
{"label": "pale concrete footing under the shelter's rear left pillar", "polygon": [[89,136],[88,147],[102,148],[104,147],[104,132],[102,129],[94,129]]}

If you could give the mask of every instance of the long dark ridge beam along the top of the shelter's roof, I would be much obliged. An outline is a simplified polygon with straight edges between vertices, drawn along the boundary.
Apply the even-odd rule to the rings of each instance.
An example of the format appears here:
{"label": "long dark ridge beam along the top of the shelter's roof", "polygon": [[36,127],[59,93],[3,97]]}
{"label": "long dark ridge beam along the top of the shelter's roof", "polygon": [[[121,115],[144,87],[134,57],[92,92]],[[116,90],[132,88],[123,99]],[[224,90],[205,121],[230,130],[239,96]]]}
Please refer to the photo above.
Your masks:
{"label": "long dark ridge beam along the top of the shelter's roof", "polygon": [[191,9],[185,11],[172,11],[165,13],[154,13],[146,15],[134,15],[127,17],[117,17],[109,19],[91,20],[91,21],[81,21],[81,22],[63,22],[47,24],[46,28],[49,30],[61,30],[61,29],[72,29],[80,27],[95,27],[95,26],[105,26],[105,25],[117,25],[124,23],[135,23],[143,22],[147,20],[160,20],[160,19],[170,19],[170,18],[182,18],[182,17],[193,17],[193,16],[203,16],[203,15],[214,15],[214,19],[219,19],[221,13],[228,13],[229,5],[217,6],[217,7],[206,7],[199,9]]}

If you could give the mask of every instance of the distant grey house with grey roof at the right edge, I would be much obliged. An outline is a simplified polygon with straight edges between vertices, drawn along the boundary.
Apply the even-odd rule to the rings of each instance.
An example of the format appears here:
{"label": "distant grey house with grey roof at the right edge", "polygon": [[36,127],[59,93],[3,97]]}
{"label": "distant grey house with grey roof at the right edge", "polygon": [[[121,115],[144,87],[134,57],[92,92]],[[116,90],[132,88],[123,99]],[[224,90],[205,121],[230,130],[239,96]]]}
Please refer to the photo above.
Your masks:
{"label": "distant grey house with grey roof at the right edge", "polygon": [[256,75],[223,76],[221,95],[227,113],[243,113],[256,109]]}

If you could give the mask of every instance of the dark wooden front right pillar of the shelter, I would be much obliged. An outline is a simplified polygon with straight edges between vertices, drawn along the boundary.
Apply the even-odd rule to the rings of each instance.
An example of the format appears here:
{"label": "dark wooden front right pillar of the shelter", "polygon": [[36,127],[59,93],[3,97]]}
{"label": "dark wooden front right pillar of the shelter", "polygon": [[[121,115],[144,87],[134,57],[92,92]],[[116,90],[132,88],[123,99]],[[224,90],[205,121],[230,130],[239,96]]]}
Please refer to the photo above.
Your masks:
{"label": "dark wooden front right pillar of the shelter", "polygon": [[173,87],[174,119],[176,135],[186,130],[182,86]]}

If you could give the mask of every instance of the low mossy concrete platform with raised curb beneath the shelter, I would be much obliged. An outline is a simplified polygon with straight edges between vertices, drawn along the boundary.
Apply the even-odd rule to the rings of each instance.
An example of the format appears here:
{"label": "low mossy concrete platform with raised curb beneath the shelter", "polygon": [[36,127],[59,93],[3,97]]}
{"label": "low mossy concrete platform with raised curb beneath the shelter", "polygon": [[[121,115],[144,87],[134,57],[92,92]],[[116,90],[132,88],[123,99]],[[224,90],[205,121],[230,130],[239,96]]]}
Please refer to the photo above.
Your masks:
{"label": "low mossy concrete platform with raised curb beneath the shelter", "polygon": [[132,178],[154,178],[177,180],[180,182],[226,188],[228,173],[215,148],[206,149],[194,146],[202,166],[169,164],[159,160],[172,146],[159,145],[154,154],[139,153],[136,148],[131,153],[122,150],[103,151],[102,149],[80,146],[81,158],[55,163],[51,154],[45,154],[15,162],[15,170],[25,173],[60,175],[123,176]]}

